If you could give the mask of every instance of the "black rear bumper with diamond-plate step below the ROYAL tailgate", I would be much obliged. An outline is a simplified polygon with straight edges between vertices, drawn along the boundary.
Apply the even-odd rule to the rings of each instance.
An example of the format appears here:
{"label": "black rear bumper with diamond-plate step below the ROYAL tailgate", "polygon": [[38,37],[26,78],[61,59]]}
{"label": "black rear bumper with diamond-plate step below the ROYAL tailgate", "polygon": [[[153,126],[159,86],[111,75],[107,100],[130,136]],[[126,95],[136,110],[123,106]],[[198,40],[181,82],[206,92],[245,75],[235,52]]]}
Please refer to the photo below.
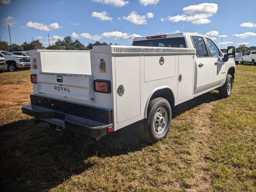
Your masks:
{"label": "black rear bumper with diamond-plate step below the ROYAL tailgate", "polygon": [[47,97],[30,95],[31,105],[23,106],[22,113],[36,120],[80,132],[96,140],[107,134],[112,124],[112,110],[80,105]]}

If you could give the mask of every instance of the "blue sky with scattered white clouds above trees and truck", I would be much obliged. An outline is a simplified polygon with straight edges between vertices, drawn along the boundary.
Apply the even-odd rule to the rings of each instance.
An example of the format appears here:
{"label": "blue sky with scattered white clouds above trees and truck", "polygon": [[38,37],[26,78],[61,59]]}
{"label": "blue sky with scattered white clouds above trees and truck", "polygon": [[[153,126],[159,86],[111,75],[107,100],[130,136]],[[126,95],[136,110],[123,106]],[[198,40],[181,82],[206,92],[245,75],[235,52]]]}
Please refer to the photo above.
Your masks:
{"label": "blue sky with scattered white clouds above trees and truck", "polygon": [[[0,36],[22,44],[48,35],[130,45],[135,36],[198,32],[229,45],[256,46],[256,0],[0,0]],[[210,32],[210,33],[208,33]],[[52,44],[52,40],[50,42]]]}

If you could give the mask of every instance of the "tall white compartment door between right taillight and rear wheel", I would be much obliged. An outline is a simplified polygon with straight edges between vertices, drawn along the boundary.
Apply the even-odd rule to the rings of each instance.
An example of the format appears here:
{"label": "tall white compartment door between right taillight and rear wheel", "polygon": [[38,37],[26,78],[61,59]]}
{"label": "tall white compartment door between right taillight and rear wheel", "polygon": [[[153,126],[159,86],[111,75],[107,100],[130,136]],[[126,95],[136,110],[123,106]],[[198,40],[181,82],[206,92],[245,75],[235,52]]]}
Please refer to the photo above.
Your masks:
{"label": "tall white compartment door between right taillight and rear wheel", "polygon": [[115,56],[116,88],[122,85],[124,94],[116,94],[117,123],[140,115],[140,56]]}

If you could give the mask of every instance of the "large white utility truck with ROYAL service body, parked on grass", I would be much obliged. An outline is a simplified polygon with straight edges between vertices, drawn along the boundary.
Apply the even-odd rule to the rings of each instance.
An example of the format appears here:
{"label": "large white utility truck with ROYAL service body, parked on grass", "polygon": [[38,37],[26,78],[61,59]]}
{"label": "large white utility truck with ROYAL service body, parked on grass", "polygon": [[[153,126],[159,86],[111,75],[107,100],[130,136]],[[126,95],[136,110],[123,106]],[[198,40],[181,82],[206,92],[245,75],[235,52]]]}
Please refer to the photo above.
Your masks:
{"label": "large white utility truck with ROYAL service body, parked on grass", "polygon": [[144,140],[161,140],[172,107],[214,89],[228,97],[235,76],[234,59],[228,60],[234,47],[223,55],[210,38],[192,33],[135,38],[132,46],[30,50],[29,55],[34,94],[22,112],[96,140],[134,122]]}

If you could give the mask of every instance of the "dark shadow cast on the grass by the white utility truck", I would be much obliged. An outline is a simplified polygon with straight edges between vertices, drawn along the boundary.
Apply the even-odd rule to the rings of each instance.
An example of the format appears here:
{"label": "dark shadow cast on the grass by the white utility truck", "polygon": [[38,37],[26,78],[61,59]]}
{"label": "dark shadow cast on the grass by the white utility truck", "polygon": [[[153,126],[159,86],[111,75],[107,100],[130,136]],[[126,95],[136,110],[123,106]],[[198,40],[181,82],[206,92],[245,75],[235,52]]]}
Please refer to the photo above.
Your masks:
{"label": "dark shadow cast on the grass by the white utility truck", "polygon": [[[172,117],[203,103],[218,100],[207,93],[173,109]],[[104,158],[141,150],[148,146],[132,124],[95,142],[70,131],[62,133],[47,124],[21,120],[0,129],[1,178],[3,191],[45,191],[94,166],[93,156]]]}

